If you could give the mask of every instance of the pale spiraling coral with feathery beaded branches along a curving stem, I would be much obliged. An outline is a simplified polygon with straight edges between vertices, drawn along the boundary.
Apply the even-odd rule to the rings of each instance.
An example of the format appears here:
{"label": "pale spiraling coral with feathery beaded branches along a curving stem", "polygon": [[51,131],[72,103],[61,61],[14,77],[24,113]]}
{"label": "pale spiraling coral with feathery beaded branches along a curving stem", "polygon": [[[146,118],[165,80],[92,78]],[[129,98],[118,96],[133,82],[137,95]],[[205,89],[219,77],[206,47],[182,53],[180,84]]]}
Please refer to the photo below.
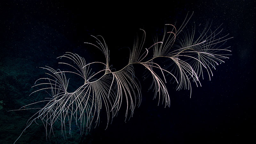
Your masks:
{"label": "pale spiraling coral with feathery beaded branches along a curving stem", "polygon": [[[173,24],[166,24],[163,37],[160,39],[156,36],[154,44],[147,48],[144,46],[146,32],[140,29],[142,36],[135,38],[129,62],[121,70],[116,71],[109,65],[108,46],[102,36],[93,36],[95,42],[86,44],[100,49],[105,56],[105,62],[86,63],[83,57],[67,52],[59,58],[70,62],[64,61],[59,64],[73,70],[62,71],[48,66],[42,67],[47,71],[46,77],[38,79],[33,87],[46,87],[39,88],[31,94],[46,90],[51,98],[19,109],[32,109],[28,106],[46,103],[28,120],[24,131],[33,121],[41,119],[46,129],[46,137],[50,138],[51,133],[54,135],[53,125],[56,122],[61,125],[64,139],[67,138],[67,133],[71,135],[72,125],[76,125],[83,134],[93,125],[96,127],[99,124],[102,109],[107,113],[107,128],[124,101],[126,102],[125,120],[130,119],[136,106],[140,106],[142,95],[133,65],[146,68],[152,76],[150,88],[154,91],[154,98],[158,97],[158,104],[162,103],[165,107],[170,107],[170,95],[166,84],[172,80],[177,83],[177,90],[190,90],[191,97],[191,83],[201,86],[200,77],[204,79],[206,74],[210,79],[212,69],[224,62],[223,59],[228,58],[229,54],[225,52],[231,51],[228,50],[229,47],[224,47],[224,44],[232,38],[228,35],[222,36],[220,27],[211,30],[211,22],[207,22],[205,27],[200,29],[199,35],[196,34],[195,24],[188,30],[186,25],[191,16],[192,14],[187,15],[179,28]],[[157,59],[163,59],[164,62]],[[98,67],[102,65],[102,69],[93,72],[91,65]],[[74,92],[68,92],[67,73],[77,75],[84,81],[83,85]]]}

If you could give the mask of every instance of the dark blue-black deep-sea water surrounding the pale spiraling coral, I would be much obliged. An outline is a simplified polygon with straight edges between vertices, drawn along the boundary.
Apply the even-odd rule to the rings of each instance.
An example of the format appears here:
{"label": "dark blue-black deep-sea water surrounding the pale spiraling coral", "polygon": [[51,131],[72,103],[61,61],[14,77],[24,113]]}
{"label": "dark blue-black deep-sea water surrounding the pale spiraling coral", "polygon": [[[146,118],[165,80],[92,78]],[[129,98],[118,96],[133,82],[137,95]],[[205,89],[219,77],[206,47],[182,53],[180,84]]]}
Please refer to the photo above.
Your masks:
{"label": "dark blue-black deep-sea water surrounding the pale spiraling coral", "polygon": [[[120,113],[104,130],[103,118],[86,137],[66,141],[61,137],[46,141],[42,124],[32,124],[17,143],[255,142],[255,1],[45,0],[0,2],[0,143],[13,143],[34,113],[7,111],[44,97],[28,96],[35,80],[44,76],[38,67],[58,68],[56,58],[64,52],[77,53],[87,62],[102,60],[100,51],[84,44],[92,42],[90,35],[101,35],[110,50],[110,63],[122,68],[139,28],[146,31],[150,45],[164,24],[177,21],[179,25],[192,11],[190,24],[212,20],[213,27],[222,24],[223,33],[234,38],[227,42],[230,59],[213,71],[211,81],[203,80],[198,88],[192,85],[191,98],[189,91],[175,91],[176,85],[170,84],[171,107],[157,106],[153,92],[147,92],[148,82],[141,81],[143,101],[130,121],[125,123]],[[135,69],[136,73],[140,72]]]}

